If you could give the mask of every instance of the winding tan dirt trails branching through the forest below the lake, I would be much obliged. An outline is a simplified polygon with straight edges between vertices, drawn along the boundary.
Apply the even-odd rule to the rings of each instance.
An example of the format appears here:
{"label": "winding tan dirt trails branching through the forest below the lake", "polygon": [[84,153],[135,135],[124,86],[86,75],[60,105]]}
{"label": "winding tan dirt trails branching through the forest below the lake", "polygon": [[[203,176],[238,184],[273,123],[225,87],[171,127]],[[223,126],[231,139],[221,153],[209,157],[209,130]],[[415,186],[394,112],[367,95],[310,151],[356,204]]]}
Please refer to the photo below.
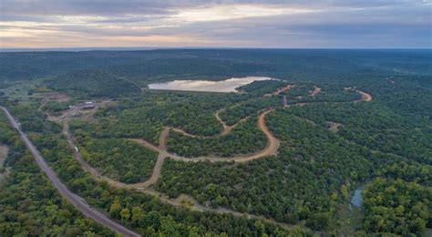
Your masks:
{"label": "winding tan dirt trails branching through the forest below the lake", "polygon": [[[290,88],[293,88],[293,85],[288,85],[287,87],[278,89],[278,91],[273,92],[273,93],[277,93],[277,94],[273,94],[273,95],[279,95],[283,91],[286,91]],[[320,89],[321,88],[319,88],[319,91],[321,91]],[[317,90],[317,88],[315,88],[315,90]],[[360,93],[362,97],[355,100],[355,101],[352,101],[352,102],[363,102],[363,101],[367,102],[367,101],[372,100],[372,97],[369,94],[367,94],[363,91],[360,91],[360,90],[356,90],[356,91],[358,93]],[[317,93],[319,93],[319,92],[317,92]],[[299,103],[298,105],[294,104],[291,106],[305,106],[306,104],[309,104],[309,103]],[[291,106],[284,106],[284,108],[290,108]],[[168,136],[170,135],[170,130],[180,132],[180,133],[182,133],[186,136],[190,136],[190,137],[198,137],[198,136],[191,135],[191,134],[189,134],[189,133],[187,133],[181,129],[173,129],[173,128],[169,128],[169,127],[164,127],[164,129],[161,131],[160,136],[159,136],[159,146],[158,147],[151,144],[149,141],[146,141],[144,139],[130,139],[130,140],[133,140],[133,141],[145,146],[148,149],[159,152],[158,160],[156,161],[155,167],[153,169],[151,176],[149,177],[149,180],[139,182],[139,183],[133,183],[133,184],[123,183],[123,182],[120,182],[117,180],[109,179],[108,177],[101,175],[101,173],[98,170],[92,168],[87,163],[86,160],[83,160],[78,149],[76,149],[75,139],[69,132],[68,119],[65,119],[63,121],[63,134],[67,137],[67,142],[69,144],[69,147],[70,147],[70,149],[73,150],[74,156],[78,160],[78,162],[81,164],[82,168],[84,170],[87,170],[87,172],[89,172],[92,175],[92,177],[96,180],[106,181],[106,182],[108,182],[109,185],[114,186],[114,187],[118,187],[118,188],[128,188],[128,189],[134,189],[137,191],[141,191],[141,192],[147,193],[151,196],[157,197],[159,199],[159,201],[161,201],[163,203],[170,204],[173,206],[178,206],[178,207],[187,207],[191,211],[214,211],[217,213],[231,213],[233,216],[236,216],[236,217],[246,217],[248,219],[256,219],[256,220],[261,220],[263,222],[271,222],[271,223],[279,225],[283,229],[288,230],[288,229],[291,229],[293,226],[286,224],[286,223],[283,223],[283,222],[277,222],[272,218],[267,218],[267,217],[264,217],[262,215],[253,215],[253,214],[249,214],[249,213],[242,213],[239,211],[232,211],[232,210],[229,210],[226,208],[221,208],[221,207],[220,208],[207,207],[207,206],[200,204],[198,201],[194,200],[192,197],[190,197],[189,195],[186,195],[186,194],[181,194],[177,199],[170,199],[164,193],[161,193],[159,191],[155,191],[153,189],[153,185],[160,178],[162,165],[163,165],[166,158],[169,158],[172,160],[185,161],[185,162],[198,162],[198,161],[202,161],[202,160],[209,160],[211,162],[247,162],[247,161],[251,161],[251,160],[261,159],[263,157],[275,156],[277,154],[277,150],[279,149],[280,142],[278,139],[276,139],[273,136],[273,133],[270,131],[270,129],[268,129],[268,127],[265,124],[265,116],[267,114],[271,113],[273,110],[274,110],[273,108],[269,108],[267,110],[262,111],[262,113],[259,115],[259,117],[257,119],[258,128],[262,130],[262,132],[264,133],[264,135],[267,138],[267,146],[264,149],[262,149],[258,152],[252,153],[252,154],[236,155],[236,156],[233,156],[230,158],[223,158],[223,157],[216,157],[216,156],[196,157],[196,158],[181,157],[181,156],[178,156],[176,154],[172,154],[172,153],[168,152],[168,150],[167,150],[167,139],[168,139]],[[221,131],[220,134],[217,134],[214,136],[223,136],[223,135],[230,133],[231,129],[242,121],[241,120],[237,124],[234,124],[232,126],[228,126],[219,117],[219,113],[221,111],[223,111],[223,109],[217,111],[215,113],[215,117],[221,122],[221,124],[223,126],[223,130]],[[243,119],[247,119],[247,118],[243,118]],[[211,136],[211,137],[214,137],[214,136]]]}

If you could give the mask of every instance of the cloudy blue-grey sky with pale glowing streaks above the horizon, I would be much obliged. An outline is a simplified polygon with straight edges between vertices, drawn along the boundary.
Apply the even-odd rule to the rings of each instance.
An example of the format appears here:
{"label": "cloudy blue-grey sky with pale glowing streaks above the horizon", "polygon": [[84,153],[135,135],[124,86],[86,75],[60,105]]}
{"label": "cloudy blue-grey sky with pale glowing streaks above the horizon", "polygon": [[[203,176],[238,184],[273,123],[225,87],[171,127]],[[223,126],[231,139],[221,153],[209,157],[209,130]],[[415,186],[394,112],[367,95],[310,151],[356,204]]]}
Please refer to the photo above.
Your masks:
{"label": "cloudy blue-grey sky with pale glowing streaks above the horizon", "polygon": [[432,0],[0,0],[0,47],[431,48]]}

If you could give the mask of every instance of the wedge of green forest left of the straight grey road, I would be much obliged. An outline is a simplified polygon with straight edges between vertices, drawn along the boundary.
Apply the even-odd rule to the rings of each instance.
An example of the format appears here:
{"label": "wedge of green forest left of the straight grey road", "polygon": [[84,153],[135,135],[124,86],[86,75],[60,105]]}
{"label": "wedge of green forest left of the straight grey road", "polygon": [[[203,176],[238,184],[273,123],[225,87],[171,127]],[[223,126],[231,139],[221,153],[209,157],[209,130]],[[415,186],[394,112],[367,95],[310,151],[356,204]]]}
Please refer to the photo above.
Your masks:
{"label": "wedge of green forest left of the straight grey road", "polygon": [[0,180],[2,235],[115,236],[85,218],[57,194],[3,113],[0,114],[0,142],[9,146],[5,164],[13,168],[5,180]]}

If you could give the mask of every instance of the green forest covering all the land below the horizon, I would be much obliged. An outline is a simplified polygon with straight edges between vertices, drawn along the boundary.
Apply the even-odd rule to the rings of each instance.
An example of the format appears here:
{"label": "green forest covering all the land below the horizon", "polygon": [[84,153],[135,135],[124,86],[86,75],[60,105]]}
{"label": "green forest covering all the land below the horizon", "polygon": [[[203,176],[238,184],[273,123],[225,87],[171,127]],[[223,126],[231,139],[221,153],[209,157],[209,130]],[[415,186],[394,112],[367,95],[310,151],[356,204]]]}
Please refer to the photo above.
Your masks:
{"label": "green forest covering all the land below the horizon", "polygon": [[[68,189],[143,236],[425,236],[432,228],[430,51],[167,49],[0,59],[0,105]],[[246,76],[273,79],[238,93],[147,88]],[[20,88],[29,81],[35,88]],[[11,90],[26,99],[9,98]],[[96,108],[71,116],[69,106],[85,101]],[[258,126],[264,111],[277,152],[232,160],[268,146]],[[146,190],[92,176],[65,128],[101,176],[125,187],[147,183],[162,150],[160,176]],[[0,180],[0,235],[114,235],[49,185],[3,113],[0,131],[10,170]],[[220,160],[194,160],[209,156]],[[362,204],[350,211],[360,188]],[[172,204],[185,196],[189,202]]]}

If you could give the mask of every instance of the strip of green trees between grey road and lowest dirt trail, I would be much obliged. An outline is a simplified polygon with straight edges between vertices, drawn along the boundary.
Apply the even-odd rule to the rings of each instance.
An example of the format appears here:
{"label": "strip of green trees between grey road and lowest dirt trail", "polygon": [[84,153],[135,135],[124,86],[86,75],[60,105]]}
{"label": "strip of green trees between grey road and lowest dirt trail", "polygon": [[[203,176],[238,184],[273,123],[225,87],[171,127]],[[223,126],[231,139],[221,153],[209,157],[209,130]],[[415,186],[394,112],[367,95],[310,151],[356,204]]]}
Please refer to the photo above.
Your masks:
{"label": "strip of green trees between grey road and lowest dirt trail", "polygon": [[[28,113],[29,110],[26,110],[28,107],[18,105],[14,106],[14,109],[17,113],[23,112],[19,113],[21,114],[19,119],[23,122],[34,117],[43,117],[43,115],[37,114],[36,110],[30,110],[33,112]],[[49,126],[55,126],[55,124],[47,123],[46,127]],[[30,139],[36,143],[37,147],[44,148],[42,149],[44,158],[57,171],[60,179],[67,183],[67,187],[83,197],[87,203],[107,212],[114,220],[143,235],[288,234],[283,229],[267,222],[235,218],[230,214],[188,211],[187,208],[163,204],[158,199],[138,191],[113,189],[107,183],[93,180],[89,174],[80,169],[77,160],[72,156],[72,151],[67,147],[67,141],[62,139],[58,133],[53,132],[54,129],[46,128],[43,132],[37,129],[28,128]],[[10,132],[14,133],[12,129]],[[15,138],[17,139],[17,137]],[[25,191],[28,191],[30,187],[26,189]],[[47,200],[44,198],[43,201]],[[5,218],[6,212],[2,211],[0,218]],[[12,231],[18,232],[22,226],[26,226],[26,223],[16,224]],[[69,227],[65,227],[65,229],[67,231]],[[89,230],[89,228],[86,227],[84,230]],[[293,234],[297,232],[306,233],[300,228],[293,230]],[[104,236],[103,232],[97,233]]]}

